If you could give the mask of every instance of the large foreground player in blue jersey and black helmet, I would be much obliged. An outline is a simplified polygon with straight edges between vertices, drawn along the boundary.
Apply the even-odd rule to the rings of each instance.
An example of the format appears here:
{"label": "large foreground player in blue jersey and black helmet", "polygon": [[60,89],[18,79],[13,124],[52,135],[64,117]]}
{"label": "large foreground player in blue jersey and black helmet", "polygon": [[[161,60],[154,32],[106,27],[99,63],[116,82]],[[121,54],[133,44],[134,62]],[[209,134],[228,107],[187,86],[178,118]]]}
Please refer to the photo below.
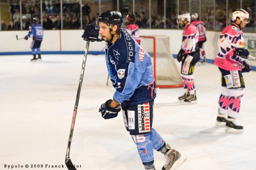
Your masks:
{"label": "large foreground player in blue jersey and black helmet", "polygon": [[87,25],[82,35],[87,41],[106,41],[106,65],[116,91],[113,99],[100,106],[99,112],[104,119],[110,119],[122,108],[124,125],[137,146],[145,170],[155,170],[153,150],[164,154],[166,161],[162,170],[169,170],[184,159],[152,128],[156,97],[152,62],[121,25],[120,12],[106,11],[98,17],[96,27]]}

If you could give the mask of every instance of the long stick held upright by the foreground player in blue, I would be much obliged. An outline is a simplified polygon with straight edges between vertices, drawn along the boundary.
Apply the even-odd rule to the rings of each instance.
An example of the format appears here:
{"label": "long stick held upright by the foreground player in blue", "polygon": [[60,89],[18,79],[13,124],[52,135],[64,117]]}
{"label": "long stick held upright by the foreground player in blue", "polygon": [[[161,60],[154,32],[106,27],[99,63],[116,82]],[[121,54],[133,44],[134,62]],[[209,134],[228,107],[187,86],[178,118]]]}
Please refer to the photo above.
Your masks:
{"label": "long stick held upright by the foreground player in blue", "polygon": [[78,83],[78,90],[76,93],[76,102],[75,102],[75,107],[74,107],[74,113],[73,113],[73,118],[72,118],[69,138],[68,138],[68,148],[67,148],[66,159],[65,159],[65,163],[66,163],[68,170],[76,170],[76,168],[74,167],[74,165],[72,164],[72,162],[70,160],[69,152],[70,152],[70,145],[71,145],[71,140],[72,140],[73,131],[74,131],[74,125],[75,125],[75,120],[76,120],[76,112],[77,112],[77,107],[78,107],[78,102],[79,102],[79,97],[80,97],[80,92],[81,92],[81,87],[82,87],[82,82],[83,82],[83,77],[84,77],[84,67],[85,67],[85,62],[86,62],[86,58],[87,58],[87,54],[88,54],[89,44],[90,44],[90,41],[87,41],[85,51],[84,51],[84,60],[83,60],[82,69],[81,69],[81,73],[80,73],[80,79],[79,79],[79,83]]}

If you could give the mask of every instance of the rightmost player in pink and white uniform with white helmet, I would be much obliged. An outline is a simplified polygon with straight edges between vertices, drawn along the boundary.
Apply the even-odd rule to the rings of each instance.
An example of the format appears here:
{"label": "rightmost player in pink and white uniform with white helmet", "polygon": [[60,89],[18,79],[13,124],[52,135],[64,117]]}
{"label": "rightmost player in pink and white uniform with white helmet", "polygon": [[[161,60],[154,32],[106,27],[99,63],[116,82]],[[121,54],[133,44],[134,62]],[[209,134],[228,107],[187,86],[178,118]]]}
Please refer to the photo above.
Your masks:
{"label": "rightmost player in pink and white uniform with white helmet", "polygon": [[[218,101],[217,126],[225,126],[226,132],[242,133],[243,126],[238,126],[235,119],[240,110],[240,101],[244,94],[244,78],[242,72],[250,72],[245,61],[249,52],[244,48],[242,28],[249,23],[249,14],[243,9],[232,13],[232,24],[224,28],[218,40],[219,53],[214,64],[222,74],[222,92]],[[228,116],[226,119],[225,116]]]}

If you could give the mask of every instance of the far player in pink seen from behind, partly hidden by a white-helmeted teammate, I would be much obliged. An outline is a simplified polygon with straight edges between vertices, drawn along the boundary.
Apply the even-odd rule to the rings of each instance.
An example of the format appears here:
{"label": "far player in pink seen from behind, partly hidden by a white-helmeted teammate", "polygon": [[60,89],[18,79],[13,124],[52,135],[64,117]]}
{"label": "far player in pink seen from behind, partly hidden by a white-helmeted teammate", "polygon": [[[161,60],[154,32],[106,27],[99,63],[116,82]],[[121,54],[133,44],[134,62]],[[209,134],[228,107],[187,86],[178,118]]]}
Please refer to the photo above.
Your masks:
{"label": "far player in pink seen from behind, partly hidden by a white-helmeted teammate", "polygon": [[202,59],[201,62],[206,62],[206,56],[204,51],[204,42],[206,42],[206,27],[202,20],[199,20],[198,13],[194,13],[191,15],[191,18],[193,22],[191,22],[192,25],[196,26],[196,30],[199,34],[198,39],[198,46],[200,47],[200,58]]}

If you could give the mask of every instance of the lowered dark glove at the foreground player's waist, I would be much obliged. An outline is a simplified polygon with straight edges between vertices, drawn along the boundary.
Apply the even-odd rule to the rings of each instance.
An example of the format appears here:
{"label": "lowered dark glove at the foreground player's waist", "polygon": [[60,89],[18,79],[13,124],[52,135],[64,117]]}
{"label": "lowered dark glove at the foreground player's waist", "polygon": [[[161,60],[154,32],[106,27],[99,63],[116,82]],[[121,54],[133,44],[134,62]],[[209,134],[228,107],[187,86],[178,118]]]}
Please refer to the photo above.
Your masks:
{"label": "lowered dark glove at the foreground player's waist", "polygon": [[111,119],[115,118],[118,115],[118,112],[120,112],[121,108],[118,106],[118,108],[112,108],[109,104],[112,102],[112,100],[107,100],[106,103],[103,103],[100,106],[99,112],[101,113],[102,118],[104,119]]}

